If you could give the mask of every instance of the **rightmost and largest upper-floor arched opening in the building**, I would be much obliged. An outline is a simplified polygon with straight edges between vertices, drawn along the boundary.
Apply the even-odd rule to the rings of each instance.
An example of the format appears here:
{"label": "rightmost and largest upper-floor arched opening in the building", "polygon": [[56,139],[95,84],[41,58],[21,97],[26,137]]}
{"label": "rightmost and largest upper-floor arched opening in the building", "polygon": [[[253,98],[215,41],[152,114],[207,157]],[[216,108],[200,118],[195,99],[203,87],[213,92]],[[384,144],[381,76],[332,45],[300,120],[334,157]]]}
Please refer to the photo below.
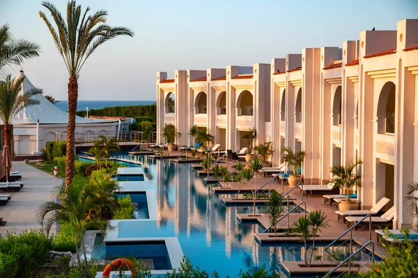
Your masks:
{"label": "rightmost and largest upper-floor arched opening in the building", "polygon": [[378,133],[395,133],[396,85],[388,81],[380,90],[378,101]]}

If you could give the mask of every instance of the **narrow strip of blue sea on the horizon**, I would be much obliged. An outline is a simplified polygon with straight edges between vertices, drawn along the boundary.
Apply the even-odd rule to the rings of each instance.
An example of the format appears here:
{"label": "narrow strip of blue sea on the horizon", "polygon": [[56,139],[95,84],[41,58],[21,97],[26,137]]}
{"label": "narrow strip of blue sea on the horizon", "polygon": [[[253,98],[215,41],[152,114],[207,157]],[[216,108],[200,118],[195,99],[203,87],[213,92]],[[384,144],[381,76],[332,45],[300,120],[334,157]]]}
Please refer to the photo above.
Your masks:
{"label": "narrow strip of blue sea on the horizon", "polygon": [[[111,106],[137,106],[155,104],[153,100],[79,100],[77,101],[77,111],[90,109],[100,109]],[[63,111],[68,111],[68,100],[60,100],[56,104]]]}

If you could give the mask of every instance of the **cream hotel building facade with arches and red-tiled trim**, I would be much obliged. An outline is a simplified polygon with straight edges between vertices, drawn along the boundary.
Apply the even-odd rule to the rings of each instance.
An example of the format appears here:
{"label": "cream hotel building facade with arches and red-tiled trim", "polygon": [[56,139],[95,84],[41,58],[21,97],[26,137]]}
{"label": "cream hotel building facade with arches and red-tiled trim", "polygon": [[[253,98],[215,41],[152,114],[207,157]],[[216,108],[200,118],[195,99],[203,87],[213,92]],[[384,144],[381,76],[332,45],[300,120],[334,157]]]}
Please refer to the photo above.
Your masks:
{"label": "cream hotel building facade with arches and red-tiled trim", "polygon": [[222,149],[237,151],[257,129],[255,144],[304,150],[305,184],[325,183],[330,167],[362,159],[359,200],[370,208],[382,197],[396,206],[396,227],[410,227],[403,204],[418,181],[418,19],[396,31],[363,31],[342,47],[302,49],[270,64],[157,73],[157,140],[174,124],[178,145],[196,125]]}

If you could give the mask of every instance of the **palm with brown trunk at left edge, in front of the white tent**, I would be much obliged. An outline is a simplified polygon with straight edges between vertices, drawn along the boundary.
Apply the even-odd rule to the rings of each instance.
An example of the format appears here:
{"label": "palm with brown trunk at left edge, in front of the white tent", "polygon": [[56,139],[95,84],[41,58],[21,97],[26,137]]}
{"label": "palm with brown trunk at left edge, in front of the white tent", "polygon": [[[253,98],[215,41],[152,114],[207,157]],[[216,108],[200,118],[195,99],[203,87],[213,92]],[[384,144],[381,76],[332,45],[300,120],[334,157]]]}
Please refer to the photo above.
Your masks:
{"label": "palm with brown trunk at left edge, in front of the white tent", "polygon": [[0,81],[0,118],[4,124],[4,144],[9,147],[12,143],[13,119],[24,107],[39,104],[32,97],[42,92],[40,88],[33,88],[21,93],[23,81],[24,77],[12,79],[11,75]]}

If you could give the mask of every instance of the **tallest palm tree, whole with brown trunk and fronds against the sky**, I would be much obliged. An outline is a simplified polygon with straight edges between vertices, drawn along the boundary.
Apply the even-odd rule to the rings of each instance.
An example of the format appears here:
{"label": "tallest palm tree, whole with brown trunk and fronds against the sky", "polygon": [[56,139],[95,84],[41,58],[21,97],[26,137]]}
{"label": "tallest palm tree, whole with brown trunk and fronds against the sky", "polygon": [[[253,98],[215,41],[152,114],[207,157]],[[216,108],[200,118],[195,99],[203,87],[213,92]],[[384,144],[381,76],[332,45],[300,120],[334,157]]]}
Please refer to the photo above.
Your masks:
{"label": "tallest palm tree, whole with brown trunk and fronds against the sky", "polygon": [[63,57],[65,67],[68,70],[68,126],[67,126],[67,151],[65,160],[65,184],[69,186],[74,179],[75,159],[75,115],[77,112],[78,79],[80,70],[88,57],[104,42],[118,37],[134,33],[125,27],[111,27],[106,24],[107,11],[98,10],[93,15],[88,15],[90,10],[86,8],[82,13],[82,6],[75,1],[68,1],[67,20],[63,19],[59,10],[50,2],[42,2],[54,19],[56,28],[52,26],[47,16],[39,11],[49,33],[52,35],[59,54]]}

